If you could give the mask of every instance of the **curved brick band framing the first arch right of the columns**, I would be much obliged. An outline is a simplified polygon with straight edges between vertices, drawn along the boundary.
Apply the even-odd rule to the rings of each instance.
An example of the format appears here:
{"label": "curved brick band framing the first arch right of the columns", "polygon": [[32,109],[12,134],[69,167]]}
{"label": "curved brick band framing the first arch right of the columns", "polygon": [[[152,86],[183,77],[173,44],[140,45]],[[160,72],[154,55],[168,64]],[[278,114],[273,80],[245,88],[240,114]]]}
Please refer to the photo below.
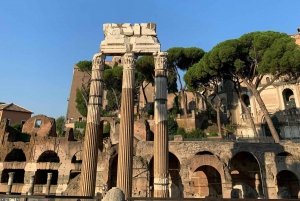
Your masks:
{"label": "curved brick band framing the first arch right of the columns", "polygon": [[192,173],[195,172],[197,168],[204,165],[215,168],[219,172],[222,182],[225,182],[225,175],[223,170],[224,164],[216,156],[212,155],[196,155],[191,158],[189,164],[190,175],[192,175]]}

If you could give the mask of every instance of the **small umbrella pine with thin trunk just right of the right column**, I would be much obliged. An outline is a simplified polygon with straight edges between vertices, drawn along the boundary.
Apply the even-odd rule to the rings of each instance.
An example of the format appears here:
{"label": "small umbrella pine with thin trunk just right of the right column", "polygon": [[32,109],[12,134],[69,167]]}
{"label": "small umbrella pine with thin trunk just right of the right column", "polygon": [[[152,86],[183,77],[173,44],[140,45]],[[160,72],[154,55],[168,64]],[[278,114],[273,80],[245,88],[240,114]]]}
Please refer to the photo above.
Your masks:
{"label": "small umbrella pine with thin trunk just right of the right column", "polygon": [[[179,69],[187,71],[195,63],[197,63],[204,55],[204,51],[197,47],[173,47],[167,50],[168,52],[168,70],[177,76],[180,85],[180,96],[185,97],[186,86],[183,85]],[[185,118],[187,118],[187,105],[185,98],[181,99]]]}

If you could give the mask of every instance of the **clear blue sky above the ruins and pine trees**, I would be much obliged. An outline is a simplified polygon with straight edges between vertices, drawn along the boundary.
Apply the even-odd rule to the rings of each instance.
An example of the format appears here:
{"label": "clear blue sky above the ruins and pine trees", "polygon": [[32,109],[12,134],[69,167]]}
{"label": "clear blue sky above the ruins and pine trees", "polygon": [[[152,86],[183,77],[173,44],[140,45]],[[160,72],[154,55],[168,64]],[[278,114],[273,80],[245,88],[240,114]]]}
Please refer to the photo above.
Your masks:
{"label": "clear blue sky above the ruins and pine trees", "polygon": [[0,102],[65,116],[73,66],[99,51],[104,23],[155,22],[163,51],[209,51],[252,31],[295,34],[299,7],[299,0],[2,0]]}

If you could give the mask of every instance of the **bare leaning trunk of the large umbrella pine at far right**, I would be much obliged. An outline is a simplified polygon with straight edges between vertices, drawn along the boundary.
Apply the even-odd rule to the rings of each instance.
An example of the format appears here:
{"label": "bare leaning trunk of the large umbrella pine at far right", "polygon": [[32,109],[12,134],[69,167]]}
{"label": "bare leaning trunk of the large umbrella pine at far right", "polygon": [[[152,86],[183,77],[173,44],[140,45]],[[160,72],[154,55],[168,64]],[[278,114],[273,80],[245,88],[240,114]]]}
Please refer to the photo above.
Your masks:
{"label": "bare leaning trunk of the large umbrella pine at far right", "polygon": [[261,99],[261,96],[260,96],[259,92],[257,91],[257,89],[253,86],[253,84],[251,82],[247,82],[246,79],[242,79],[242,80],[247,85],[247,87],[251,90],[251,92],[253,93],[253,96],[255,97],[255,99],[256,99],[256,101],[257,101],[257,103],[258,103],[261,111],[263,112],[264,117],[266,119],[266,122],[267,122],[267,124],[269,126],[270,132],[271,132],[271,134],[272,134],[272,136],[274,138],[274,141],[276,143],[279,143],[280,139],[278,137],[277,131],[276,131],[275,127],[274,127],[274,124],[273,124],[272,119],[271,119],[271,117],[269,115],[269,112],[268,112],[268,110],[266,108],[266,105],[263,102],[263,100]]}

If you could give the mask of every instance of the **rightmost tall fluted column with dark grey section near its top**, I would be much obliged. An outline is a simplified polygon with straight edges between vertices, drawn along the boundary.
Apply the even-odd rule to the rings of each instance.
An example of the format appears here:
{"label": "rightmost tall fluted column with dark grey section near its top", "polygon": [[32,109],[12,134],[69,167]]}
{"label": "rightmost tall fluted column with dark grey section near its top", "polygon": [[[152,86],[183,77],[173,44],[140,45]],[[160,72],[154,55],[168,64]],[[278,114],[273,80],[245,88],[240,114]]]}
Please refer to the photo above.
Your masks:
{"label": "rightmost tall fluted column with dark grey section near its top", "polygon": [[154,54],[154,197],[169,197],[167,56],[166,52]]}

